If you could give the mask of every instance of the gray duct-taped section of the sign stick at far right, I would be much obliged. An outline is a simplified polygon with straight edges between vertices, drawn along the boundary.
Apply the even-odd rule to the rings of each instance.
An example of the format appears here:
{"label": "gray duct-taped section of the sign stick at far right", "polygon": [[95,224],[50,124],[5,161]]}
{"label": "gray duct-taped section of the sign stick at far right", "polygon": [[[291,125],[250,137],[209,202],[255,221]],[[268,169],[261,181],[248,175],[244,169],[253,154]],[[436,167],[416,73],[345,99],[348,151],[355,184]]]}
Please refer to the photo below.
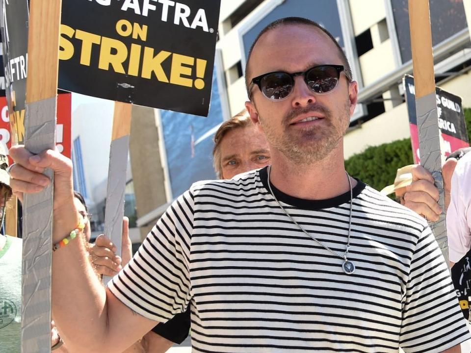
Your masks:
{"label": "gray duct-taped section of the sign stick at far right", "polygon": [[[445,197],[442,176],[442,154],[440,151],[440,130],[438,128],[437,104],[435,92],[416,99],[417,126],[419,127],[420,164],[432,173],[435,186],[440,191],[439,205],[445,209]],[[440,249],[448,261],[448,238],[446,236],[445,213],[437,222],[430,223]]]}

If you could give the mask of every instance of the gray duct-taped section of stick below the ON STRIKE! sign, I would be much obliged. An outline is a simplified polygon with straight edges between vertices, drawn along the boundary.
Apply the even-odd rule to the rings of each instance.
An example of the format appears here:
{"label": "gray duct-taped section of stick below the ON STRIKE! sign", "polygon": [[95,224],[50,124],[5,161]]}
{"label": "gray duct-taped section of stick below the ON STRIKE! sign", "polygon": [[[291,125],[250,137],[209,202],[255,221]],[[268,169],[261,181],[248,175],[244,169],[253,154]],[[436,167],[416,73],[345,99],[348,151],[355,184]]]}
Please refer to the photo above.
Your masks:
{"label": "gray duct-taped section of stick below the ON STRIKE! sign", "polygon": [[[105,204],[105,235],[116,245],[116,254],[120,256],[128,152],[129,135],[111,141]],[[103,282],[106,284],[111,278],[110,276],[103,276]]]}

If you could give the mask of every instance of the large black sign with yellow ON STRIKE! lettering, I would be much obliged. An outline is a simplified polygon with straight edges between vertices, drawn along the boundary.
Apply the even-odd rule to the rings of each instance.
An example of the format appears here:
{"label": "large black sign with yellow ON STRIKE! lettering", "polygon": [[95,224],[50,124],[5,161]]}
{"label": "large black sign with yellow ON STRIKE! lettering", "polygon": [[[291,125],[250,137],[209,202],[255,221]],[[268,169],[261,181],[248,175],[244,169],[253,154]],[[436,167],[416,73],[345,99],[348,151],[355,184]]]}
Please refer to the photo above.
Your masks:
{"label": "large black sign with yellow ON STRIKE! lettering", "polygon": [[63,0],[59,87],[208,114],[219,0]]}

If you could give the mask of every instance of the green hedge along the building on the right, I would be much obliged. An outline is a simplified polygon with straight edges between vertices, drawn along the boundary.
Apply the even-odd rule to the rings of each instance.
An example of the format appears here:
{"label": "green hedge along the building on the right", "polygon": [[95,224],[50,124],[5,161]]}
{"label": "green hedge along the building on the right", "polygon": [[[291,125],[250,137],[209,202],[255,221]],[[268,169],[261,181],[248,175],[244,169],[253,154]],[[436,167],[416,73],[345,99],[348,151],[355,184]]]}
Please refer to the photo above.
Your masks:
{"label": "green hedge along the building on the right", "polygon": [[[471,141],[471,108],[465,108],[465,121]],[[376,190],[392,184],[398,168],[414,163],[410,139],[368,147],[345,161],[345,168]]]}

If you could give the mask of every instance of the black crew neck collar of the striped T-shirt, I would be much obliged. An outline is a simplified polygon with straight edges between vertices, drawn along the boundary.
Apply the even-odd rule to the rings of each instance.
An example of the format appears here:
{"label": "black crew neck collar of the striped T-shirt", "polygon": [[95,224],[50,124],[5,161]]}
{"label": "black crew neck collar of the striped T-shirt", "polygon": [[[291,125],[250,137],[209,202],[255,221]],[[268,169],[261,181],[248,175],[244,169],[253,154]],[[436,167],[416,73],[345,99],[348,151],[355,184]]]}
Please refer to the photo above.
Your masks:
{"label": "black crew neck collar of the striped T-shirt", "polygon": [[[270,193],[270,189],[268,188],[268,167],[265,167],[263,169],[259,170],[259,175],[260,179],[262,181],[263,186],[265,189]],[[353,198],[355,199],[358,195],[361,194],[361,192],[365,189],[366,184],[363,181],[357,180],[357,185],[353,188]],[[280,202],[287,203],[291,206],[295,206],[298,208],[302,209],[309,209],[309,210],[316,210],[316,209],[323,209],[323,208],[332,208],[332,207],[337,207],[340,206],[343,203],[350,202],[350,191],[347,191],[344,194],[341,194],[339,196],[336,196],[332,199],[326,199],[326,200],[305,200],[305,199],[300,199],[294,196],[290,196],[288,194],[285,194],[284,192],[278,190],[273,184],[271,185],[271,189],[273,190],[273,193],[275,194],[275,197],[278,199]]]}

